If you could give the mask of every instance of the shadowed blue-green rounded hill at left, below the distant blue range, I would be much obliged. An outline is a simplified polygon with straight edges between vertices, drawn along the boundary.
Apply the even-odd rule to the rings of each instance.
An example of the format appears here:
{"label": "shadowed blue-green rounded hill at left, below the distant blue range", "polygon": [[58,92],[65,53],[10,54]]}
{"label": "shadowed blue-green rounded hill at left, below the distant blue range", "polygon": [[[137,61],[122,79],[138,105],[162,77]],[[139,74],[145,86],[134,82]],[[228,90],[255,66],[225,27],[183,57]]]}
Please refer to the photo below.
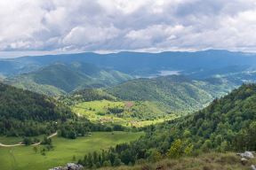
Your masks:
{"label": "shadowed blue-green rounded hill at left, below the distant blue range", "polygon": [[57,96],[76,89],[108,87],[132,77],[114,70],[84,63],[53,64],[42,69],[20,74],[5,80],[6,83],[45,95]]}

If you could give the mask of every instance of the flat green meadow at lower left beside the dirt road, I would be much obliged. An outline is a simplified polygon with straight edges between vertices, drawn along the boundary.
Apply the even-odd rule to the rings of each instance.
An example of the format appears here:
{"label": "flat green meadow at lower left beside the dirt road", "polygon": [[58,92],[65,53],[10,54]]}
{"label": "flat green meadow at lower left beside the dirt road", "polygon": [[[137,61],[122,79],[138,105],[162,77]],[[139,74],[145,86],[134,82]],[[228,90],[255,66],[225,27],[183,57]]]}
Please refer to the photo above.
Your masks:
{"label": "flat green meadow at lower left beside the dirt road", "polygon": [[[112,135],[110,132],[95,132],[91,136],[79,137],[76,140],[53,137],[54,150],[46,151],[46,156],[41,155],[40,151],[33,151],[33,146],[0,147],[0,169],[45,170],[54,166],[64,166],[68,162],[74,162],[74,156],[77,161],[78,158],[83,158],[85,153],[108,149],[117,143],[128,143],[138,139],[142,134],[114,132]],[[10,139],[1,137],[1,140],[7,142]],[[12,140],[14,139],[9,142]]]}

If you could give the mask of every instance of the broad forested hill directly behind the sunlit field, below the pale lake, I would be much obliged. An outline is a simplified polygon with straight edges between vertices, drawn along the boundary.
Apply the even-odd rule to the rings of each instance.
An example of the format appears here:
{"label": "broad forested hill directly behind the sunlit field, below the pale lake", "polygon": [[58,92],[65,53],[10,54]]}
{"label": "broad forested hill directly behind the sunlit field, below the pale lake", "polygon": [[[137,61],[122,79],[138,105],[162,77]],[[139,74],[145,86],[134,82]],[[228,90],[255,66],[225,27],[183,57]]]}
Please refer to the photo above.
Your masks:
{"label": "broad forested hill directly behind the sunlit field, below the pale lake", "polygon": [[169,75],[126,81],[107,91],[123,100],[156,101],[171,112],[192,112],[233,88],[228,82],[193,81],[184,75]]}

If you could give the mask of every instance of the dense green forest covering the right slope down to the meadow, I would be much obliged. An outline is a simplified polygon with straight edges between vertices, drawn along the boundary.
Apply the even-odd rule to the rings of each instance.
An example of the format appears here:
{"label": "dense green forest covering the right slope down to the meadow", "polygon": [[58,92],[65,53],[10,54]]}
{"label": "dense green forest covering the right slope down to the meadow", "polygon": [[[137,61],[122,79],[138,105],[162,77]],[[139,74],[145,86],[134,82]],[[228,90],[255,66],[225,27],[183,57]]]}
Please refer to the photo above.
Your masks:
{"label": "dense green forest covering the right slope down to the meadow", "polygon": [[145,129],[136,142],[85,155],[86,167],[133,165],[207,151],[256,150],[256,85],[243,85],[205,109]]}

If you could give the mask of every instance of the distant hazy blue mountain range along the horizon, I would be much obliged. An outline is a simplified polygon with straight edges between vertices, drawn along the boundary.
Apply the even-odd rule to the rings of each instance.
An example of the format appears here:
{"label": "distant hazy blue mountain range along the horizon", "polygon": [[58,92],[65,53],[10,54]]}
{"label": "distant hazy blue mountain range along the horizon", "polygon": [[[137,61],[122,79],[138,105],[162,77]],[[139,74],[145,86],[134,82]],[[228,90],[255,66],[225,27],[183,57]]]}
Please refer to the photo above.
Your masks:
{"label": "distant hazy blue mountain range along the horizon", "polygon": [[[79,54],[47,55],[42,57],[23,57],[0,60],[0,73],[4,75],[28,73],[38,67],[54,63],[72,62],[92,63],[108,67],[123,73],[147,77],[163,70],[180,73],[216,73],[234,71],[240,67],[256,66],[256,54],[231,52],[228,50],[204,50],[197,52],[119,52],[97,54],[85,52]],[[232,67],[233,66],[233,67]],[[219,71],[218,71],[219,70]]]}

